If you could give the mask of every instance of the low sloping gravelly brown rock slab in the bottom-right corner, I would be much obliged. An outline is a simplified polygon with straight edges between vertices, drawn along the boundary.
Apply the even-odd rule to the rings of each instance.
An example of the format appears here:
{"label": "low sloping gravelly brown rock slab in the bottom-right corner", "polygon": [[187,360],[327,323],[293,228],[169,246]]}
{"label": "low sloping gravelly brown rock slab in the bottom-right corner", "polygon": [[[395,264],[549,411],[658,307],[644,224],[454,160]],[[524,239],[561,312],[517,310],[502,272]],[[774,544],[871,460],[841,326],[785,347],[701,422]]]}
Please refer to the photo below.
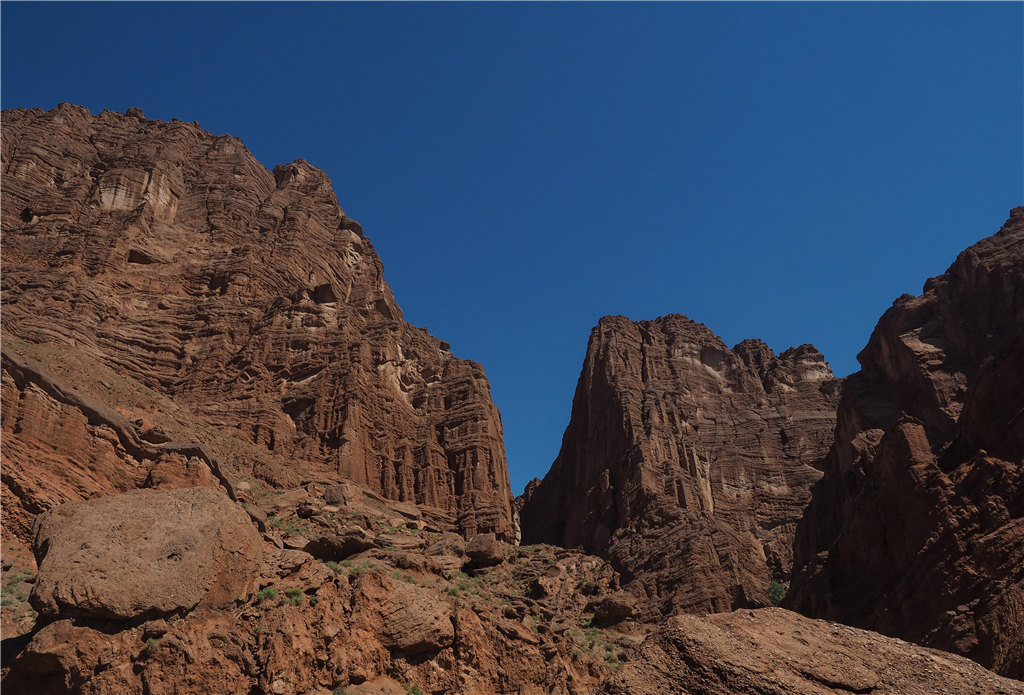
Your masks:
{"label": "low sloping gravelly brown rock slab in the bottom-right corner", "polygon": [[966,658],[780,608],[677,615],[595,691],[605,695],[1017,695]]}

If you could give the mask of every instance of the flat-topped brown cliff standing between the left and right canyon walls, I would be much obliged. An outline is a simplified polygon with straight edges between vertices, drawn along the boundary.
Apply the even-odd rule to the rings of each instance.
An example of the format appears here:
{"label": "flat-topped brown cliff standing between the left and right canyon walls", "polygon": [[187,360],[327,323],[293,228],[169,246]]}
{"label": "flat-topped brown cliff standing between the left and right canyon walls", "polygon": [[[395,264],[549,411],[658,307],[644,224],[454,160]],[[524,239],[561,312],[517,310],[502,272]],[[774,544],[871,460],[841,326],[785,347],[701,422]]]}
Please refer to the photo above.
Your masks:
{"label": "flat-topped brown cliff standing between the left and right canyon walls", "polygon": [[602,318],[524,542],[607,558],[649,617],[767,605],[820,477],[840,381],[809,345],[729,350],[671,315]]}

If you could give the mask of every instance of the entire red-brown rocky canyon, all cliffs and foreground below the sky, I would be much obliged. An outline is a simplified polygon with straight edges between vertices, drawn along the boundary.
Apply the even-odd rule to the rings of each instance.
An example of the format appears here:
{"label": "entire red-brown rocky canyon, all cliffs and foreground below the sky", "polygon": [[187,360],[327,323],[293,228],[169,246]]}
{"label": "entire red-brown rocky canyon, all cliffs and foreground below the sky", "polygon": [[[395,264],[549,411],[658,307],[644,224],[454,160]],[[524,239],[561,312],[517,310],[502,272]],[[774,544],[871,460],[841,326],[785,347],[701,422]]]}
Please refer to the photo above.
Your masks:
{"label": "entire red-brown rocky canyon, all cliffs and foreground below the sky", "polygon": [[0,140],[5,691],[1024,693],[1024,208],[846,379],[602,318],[513,498],[325,172],[138,108]]}

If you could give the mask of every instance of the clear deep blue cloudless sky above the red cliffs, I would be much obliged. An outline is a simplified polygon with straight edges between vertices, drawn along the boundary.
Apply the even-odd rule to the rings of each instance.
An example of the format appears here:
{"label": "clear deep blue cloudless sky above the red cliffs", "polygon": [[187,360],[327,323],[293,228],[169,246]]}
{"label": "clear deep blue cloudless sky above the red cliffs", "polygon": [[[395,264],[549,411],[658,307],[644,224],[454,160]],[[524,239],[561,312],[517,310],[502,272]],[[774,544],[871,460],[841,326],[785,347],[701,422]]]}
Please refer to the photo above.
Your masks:
{"label": "clear deep blue cloudless sky above the red cliffs", "polygon": [[813,343],[1024,204],[1024,4],[18,3],[4,108],[199,121],[326,170],[406,318],[481,362],[513,489],[591,328]]}

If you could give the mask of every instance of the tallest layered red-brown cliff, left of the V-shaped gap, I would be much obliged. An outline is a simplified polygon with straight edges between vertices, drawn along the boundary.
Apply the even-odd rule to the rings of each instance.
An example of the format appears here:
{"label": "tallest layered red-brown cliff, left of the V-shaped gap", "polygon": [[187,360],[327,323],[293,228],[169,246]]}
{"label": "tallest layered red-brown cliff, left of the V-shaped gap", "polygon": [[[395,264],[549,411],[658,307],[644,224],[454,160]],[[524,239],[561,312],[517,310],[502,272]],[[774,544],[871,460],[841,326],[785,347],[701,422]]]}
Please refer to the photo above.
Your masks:
{"label": "tallest layered red-brown cliff, left of the V-shaped gap", "polygon": [[[402,320],[323,171],[298,160],[271,173],[198,125],[69,104],[4,112],[2,166],[10,346],[51,368],[109,370],[92,395],[123,410],[133,409],[116,398],[123,381],[147,389],[151,404],[165,399],[155,420],[240,475],[276,487],[350,480],[435,508],[466,535],[514,538],[483,368]],[[19,440],[8,455],[61,439],[53,428],[68,422],[30,391],[5,382],[5,444]],[[8,394],[30,399],[30,420],[8,417]],[[69,417],[69,429],[83,420]],[[61,451],[81,475],[57,472],[40,491],[15,465],[5,486],[35,502],[5,509],[5,522],[20,516],[24,528],[48,506],[145,478],[114,471],[116,446],[85,420]],[[166,441],[151,425],[140,436]]]}

